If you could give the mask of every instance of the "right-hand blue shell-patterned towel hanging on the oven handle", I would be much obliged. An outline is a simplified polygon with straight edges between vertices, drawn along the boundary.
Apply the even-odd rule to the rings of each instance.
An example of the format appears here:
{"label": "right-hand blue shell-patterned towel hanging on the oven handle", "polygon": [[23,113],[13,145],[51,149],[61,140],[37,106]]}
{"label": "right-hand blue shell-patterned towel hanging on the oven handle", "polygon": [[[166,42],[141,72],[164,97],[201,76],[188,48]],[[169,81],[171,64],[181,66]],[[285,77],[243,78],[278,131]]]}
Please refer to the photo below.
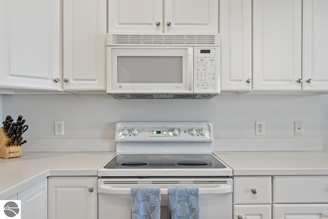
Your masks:
{"label": "right-hand blue shell-patterned towel hanging on the oven handle", "polygon": [[199,219],[199,189],[169,188],[169,219]]}

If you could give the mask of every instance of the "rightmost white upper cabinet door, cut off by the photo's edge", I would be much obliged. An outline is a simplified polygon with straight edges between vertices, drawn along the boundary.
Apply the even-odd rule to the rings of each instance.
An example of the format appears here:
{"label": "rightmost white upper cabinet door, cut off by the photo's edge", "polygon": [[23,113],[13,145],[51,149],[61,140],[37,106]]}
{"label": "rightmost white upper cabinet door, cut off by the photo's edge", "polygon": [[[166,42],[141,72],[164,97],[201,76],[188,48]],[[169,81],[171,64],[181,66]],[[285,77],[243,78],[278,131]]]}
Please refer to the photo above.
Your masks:
{"label": "rightmost white upper cabinet door, cut off by the photo's edge", "polygon": [[327,0],[303,0],[303,90],[328,90],[327,11]]}

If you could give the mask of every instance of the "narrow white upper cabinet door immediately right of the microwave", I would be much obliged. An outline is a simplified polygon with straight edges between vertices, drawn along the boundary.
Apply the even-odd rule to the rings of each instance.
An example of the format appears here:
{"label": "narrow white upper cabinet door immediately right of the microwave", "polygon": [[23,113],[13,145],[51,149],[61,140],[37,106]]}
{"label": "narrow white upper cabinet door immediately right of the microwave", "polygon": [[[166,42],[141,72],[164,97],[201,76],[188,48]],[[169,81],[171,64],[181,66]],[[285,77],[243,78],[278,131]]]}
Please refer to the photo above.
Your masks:
{"label": "narrow white upper cabinet door immediately right of the microwave", "polygon": [[220,1],[221,90],[252,90],[252,1]]}

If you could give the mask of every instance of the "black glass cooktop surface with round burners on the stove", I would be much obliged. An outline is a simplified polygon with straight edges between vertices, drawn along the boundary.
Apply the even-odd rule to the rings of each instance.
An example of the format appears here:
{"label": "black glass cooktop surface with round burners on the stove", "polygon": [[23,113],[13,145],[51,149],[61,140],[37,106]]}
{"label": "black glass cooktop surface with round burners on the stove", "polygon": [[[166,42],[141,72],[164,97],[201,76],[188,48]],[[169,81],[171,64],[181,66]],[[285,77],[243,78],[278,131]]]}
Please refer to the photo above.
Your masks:
{"label": "black glass cooktop surface with round burners on the stove", "polygon": [[223,169],[210,154],[120,154],[105,169]]}

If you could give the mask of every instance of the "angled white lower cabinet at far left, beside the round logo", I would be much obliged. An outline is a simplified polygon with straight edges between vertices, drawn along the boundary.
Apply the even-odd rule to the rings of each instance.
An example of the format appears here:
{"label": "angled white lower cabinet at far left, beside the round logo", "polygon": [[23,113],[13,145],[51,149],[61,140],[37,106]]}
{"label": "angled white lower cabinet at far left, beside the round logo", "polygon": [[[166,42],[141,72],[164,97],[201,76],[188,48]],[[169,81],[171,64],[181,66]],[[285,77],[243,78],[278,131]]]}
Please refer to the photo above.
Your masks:
{"label": "angled white lower cabinet at far left, beside the round logo", "polygon": [[45,219],[48,217],[48,180],[20,192],[22,219]]}

